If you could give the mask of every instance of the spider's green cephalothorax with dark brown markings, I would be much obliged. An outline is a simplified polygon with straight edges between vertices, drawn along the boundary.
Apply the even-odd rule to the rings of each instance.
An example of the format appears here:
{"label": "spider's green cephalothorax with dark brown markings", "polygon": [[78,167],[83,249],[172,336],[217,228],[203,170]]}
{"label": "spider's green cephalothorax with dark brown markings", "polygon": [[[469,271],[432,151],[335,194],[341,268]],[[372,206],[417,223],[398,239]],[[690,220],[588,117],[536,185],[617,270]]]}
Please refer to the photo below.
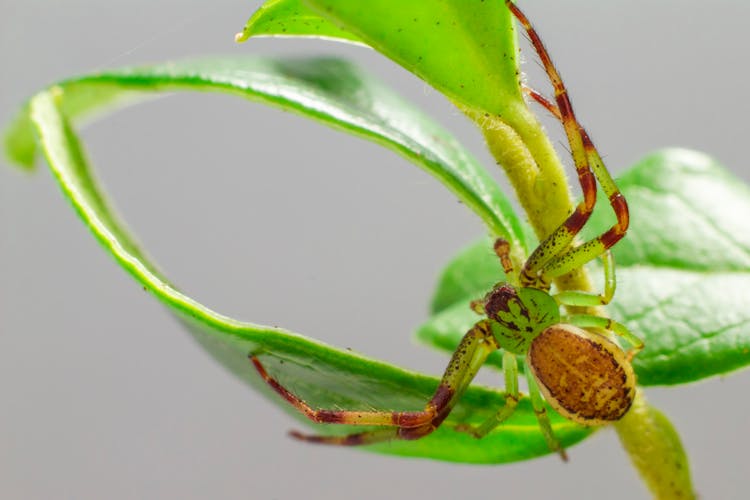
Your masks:
{"label": "spider's green cephalothorax with dark brown markings", "polygon": [[482,305],[500,348],[513,354],[526,354],[545,328],[560,322],[558,303],[536,288],[496,286]]}

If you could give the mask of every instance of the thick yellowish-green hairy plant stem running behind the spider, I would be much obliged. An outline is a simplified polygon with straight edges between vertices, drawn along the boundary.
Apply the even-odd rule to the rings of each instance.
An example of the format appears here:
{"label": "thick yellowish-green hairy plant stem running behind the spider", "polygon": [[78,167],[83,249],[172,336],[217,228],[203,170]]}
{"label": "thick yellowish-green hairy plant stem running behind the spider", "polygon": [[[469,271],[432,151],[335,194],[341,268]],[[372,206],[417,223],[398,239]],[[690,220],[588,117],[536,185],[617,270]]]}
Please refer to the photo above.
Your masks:
{"label": "thick yellowish-green hairy plant stem running behind the spider", "polygon": [[[464,112],[482,130],[490,152],[508,176],[529,223],[542,240],[568,217],[573,204],[563,165],[541,124],[523,104],[502,117],[465,108]],[[514,254],[513,258],[514,264],[520,266],[523,256]],[[591,290],[583,268],[558,278],[555,284],[561,291]],[[596,309],[590,312],[600,313]],[[615,429],[655,498],[695,498],[680,438],[669,420],[648,405],[642,390]]]}

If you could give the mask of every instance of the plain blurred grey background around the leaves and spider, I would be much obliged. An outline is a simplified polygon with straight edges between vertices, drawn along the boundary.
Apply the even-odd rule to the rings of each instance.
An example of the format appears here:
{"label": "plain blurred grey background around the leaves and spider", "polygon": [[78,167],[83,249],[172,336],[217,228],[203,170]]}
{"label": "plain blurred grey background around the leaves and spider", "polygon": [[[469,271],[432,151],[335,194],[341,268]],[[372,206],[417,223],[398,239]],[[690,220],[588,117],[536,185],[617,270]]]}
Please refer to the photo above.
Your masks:
{"label": "plain blurred grey background around the leaves and spider", "polygon": [[[681,145],[750,180],[750,4],[604,3],[525,2],[611,169]],[[235,45],[258,4],[3,0],[0,123],[75,73],[192,54],[333,53],[365,64],[492,164],[462,116],[376,53],[319,41]],[[84,137],[120,211],[188,294],[442,371],[445,357],[414,346],[410,332],[436,272],[483,229],[412,165],[219,95],[130,108]],[[2,498],[647,496],[610,430],[571,449],[568,464],[461,466],[293,442],[285,432],[295,423],[215,364],[105,255],[46,170],[1,165],[0,204]],[[746,371],[647,391],[681,432],[703,498],[741,497],[748,384]]]}

